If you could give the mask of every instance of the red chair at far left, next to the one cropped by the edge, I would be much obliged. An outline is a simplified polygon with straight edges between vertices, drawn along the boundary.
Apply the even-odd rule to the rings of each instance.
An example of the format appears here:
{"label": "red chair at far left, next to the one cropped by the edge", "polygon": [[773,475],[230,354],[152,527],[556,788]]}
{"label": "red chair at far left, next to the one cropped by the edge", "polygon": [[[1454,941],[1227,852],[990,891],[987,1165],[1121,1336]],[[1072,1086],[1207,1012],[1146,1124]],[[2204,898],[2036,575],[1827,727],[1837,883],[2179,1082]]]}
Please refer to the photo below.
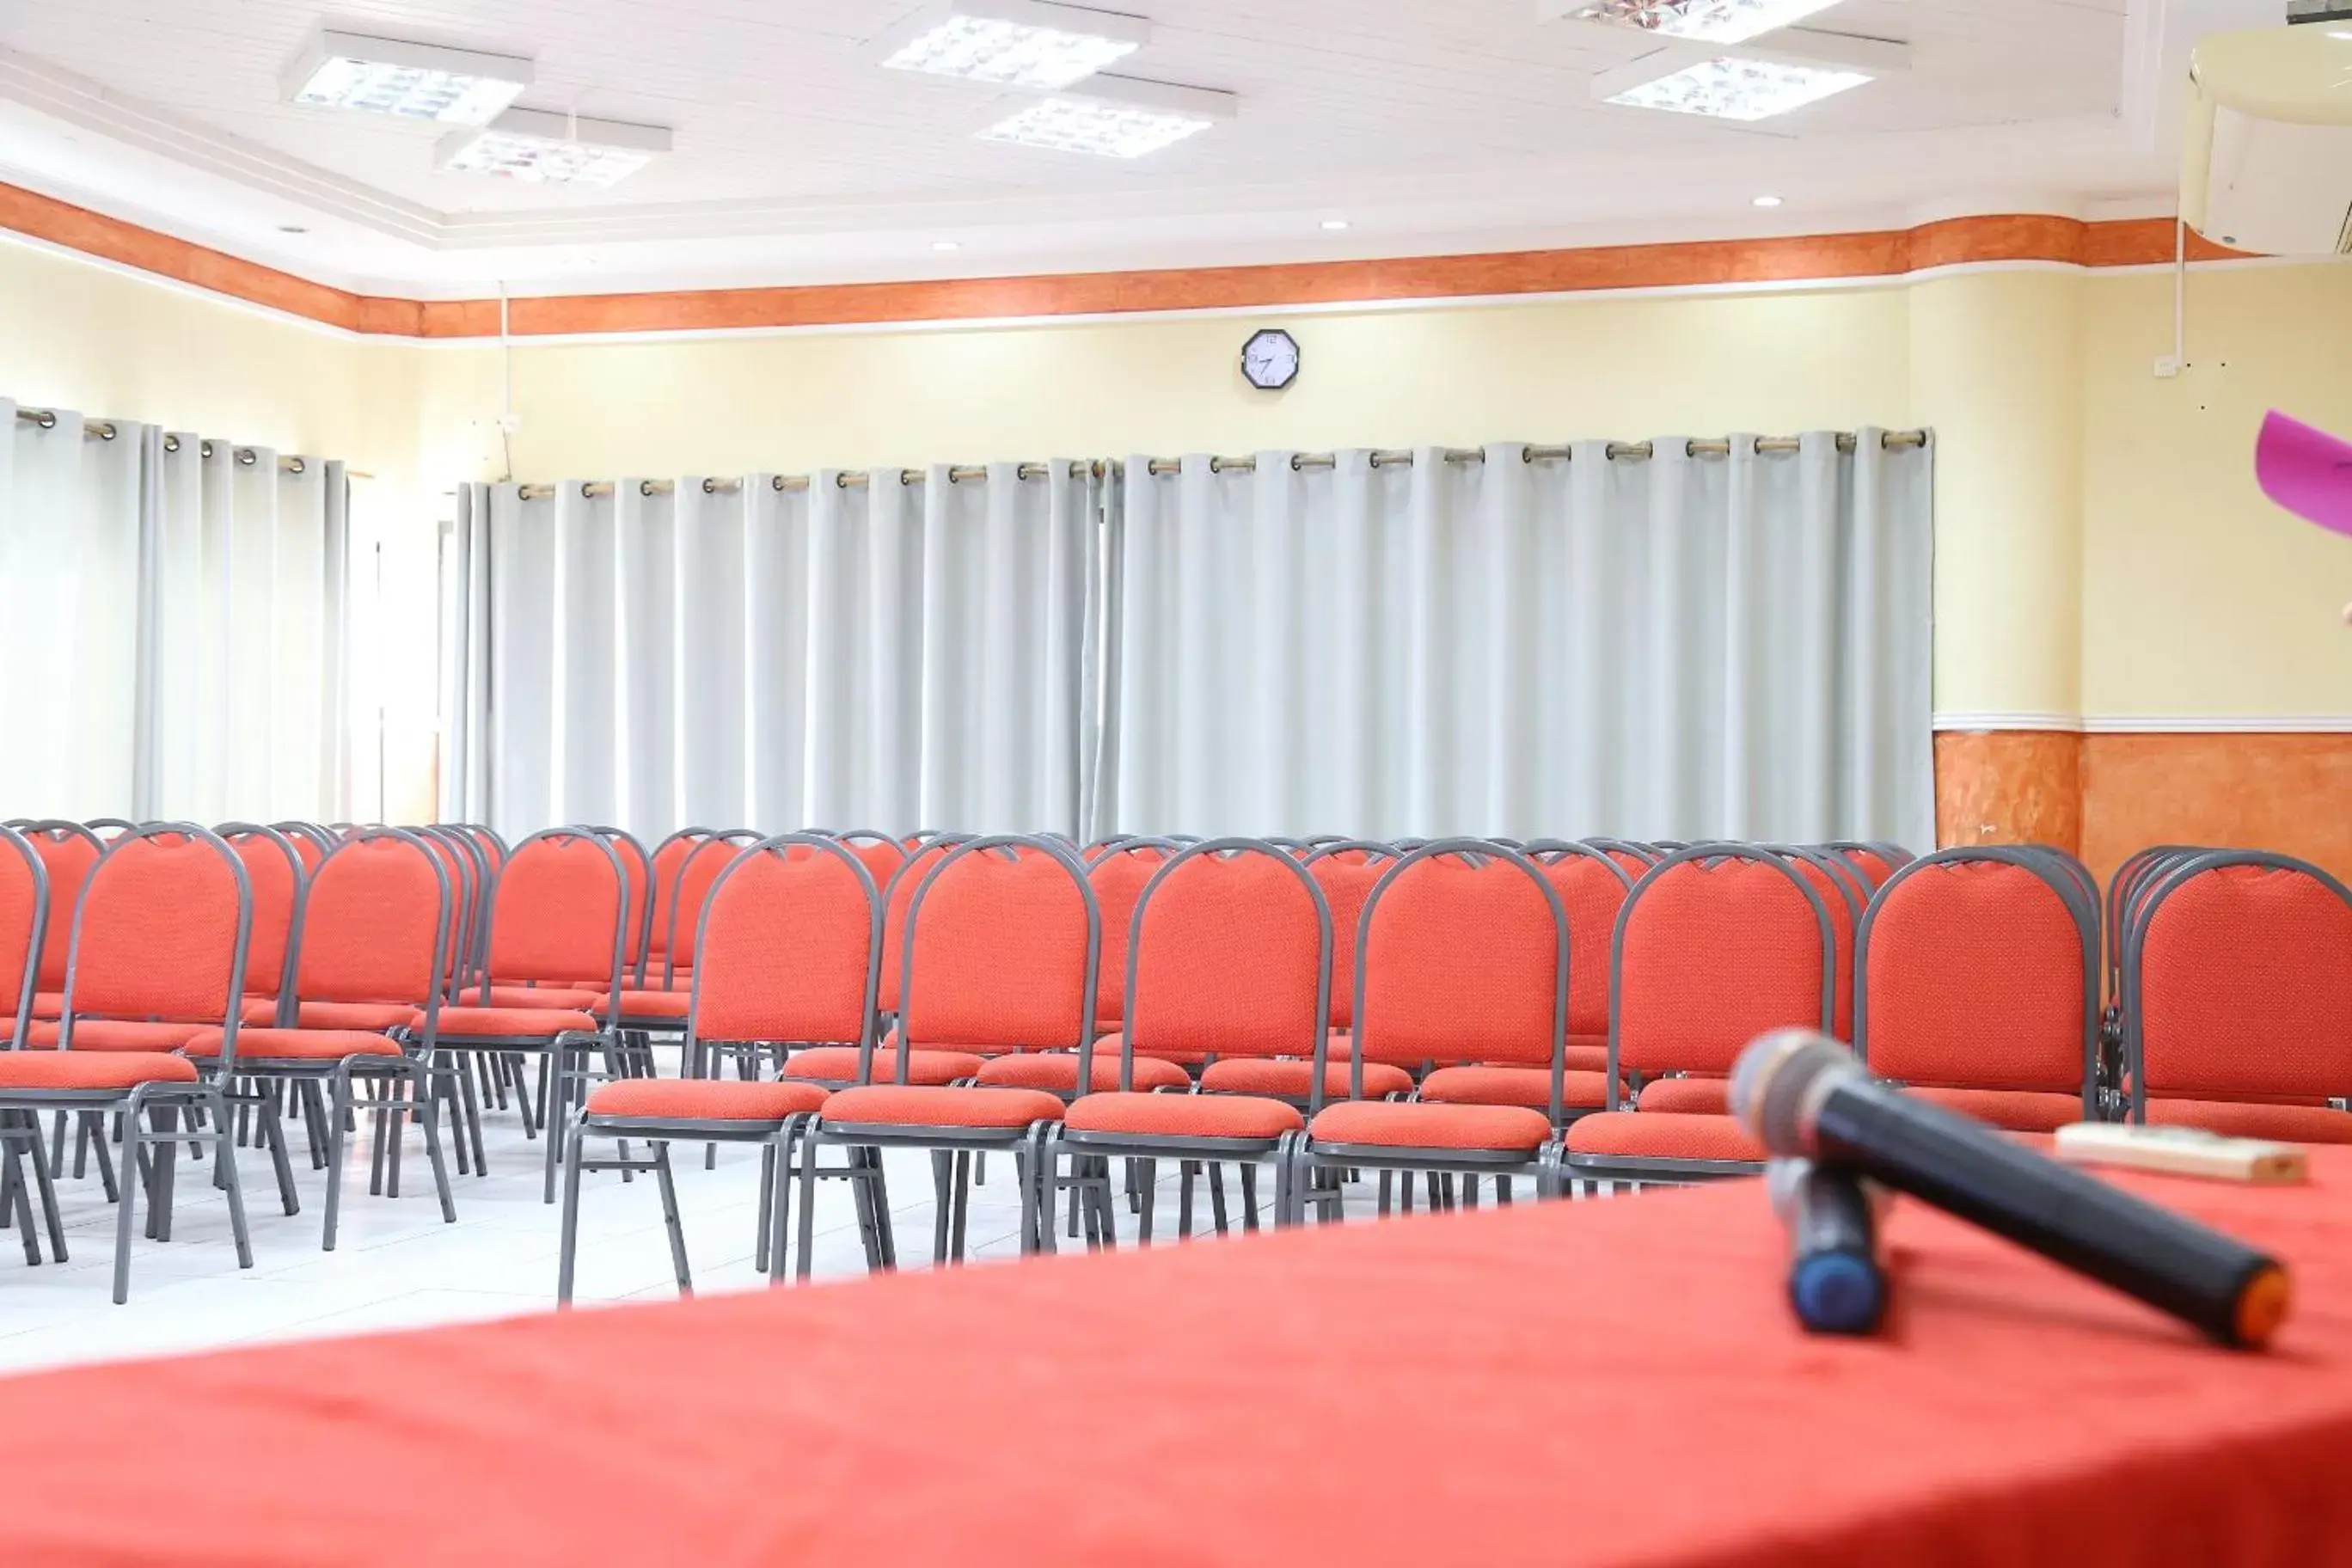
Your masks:
{"label": "red chair at far left, next to the one cropped by the edge", "polygon": [[[238,1267],[252,1267],[235,1135],[221,1084],[235,1077],[238,999],[252,896],[245,865],[216,835],[188,823],[127,827],[82,884],[66,959],[64,1020],[19,1030],[0,1051],[0,1112],[75,1110],[122,1117],[115,1208],[115,1302],[129,1300],[132,1220],[141,1187],[148,1234],[172,1239],[181,1143],[209,1143],[228,1194]],[[221,1023],[226,1020],[226,1023]],[[219,1067],[207,1079],[179,1053],[221,1023]],[[45,1048],[21,1048],[24,1041]],[[103,1041],[106,1048],[92,1048]],[[202,1124],[179,1126],[202,1110]],[[103,1150],[103,1145],[101,1145]],[[101,1161],[101,1175],[106,1166]]]}

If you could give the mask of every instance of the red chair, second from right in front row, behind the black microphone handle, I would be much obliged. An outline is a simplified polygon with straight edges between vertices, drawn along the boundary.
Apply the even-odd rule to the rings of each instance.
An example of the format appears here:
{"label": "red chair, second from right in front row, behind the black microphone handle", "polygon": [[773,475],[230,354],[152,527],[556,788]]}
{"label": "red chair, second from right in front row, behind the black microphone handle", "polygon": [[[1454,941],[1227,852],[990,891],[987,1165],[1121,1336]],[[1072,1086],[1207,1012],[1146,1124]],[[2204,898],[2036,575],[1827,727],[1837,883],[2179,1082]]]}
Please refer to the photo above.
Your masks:
{"label": "red chair, second from right in front row, behind the black microphone handle", "polygon": [[1945,849],[1886,879],[1853,999],[1870,1072],[2013,1133],[2098,1119],[2098,905],[2058,856]]}

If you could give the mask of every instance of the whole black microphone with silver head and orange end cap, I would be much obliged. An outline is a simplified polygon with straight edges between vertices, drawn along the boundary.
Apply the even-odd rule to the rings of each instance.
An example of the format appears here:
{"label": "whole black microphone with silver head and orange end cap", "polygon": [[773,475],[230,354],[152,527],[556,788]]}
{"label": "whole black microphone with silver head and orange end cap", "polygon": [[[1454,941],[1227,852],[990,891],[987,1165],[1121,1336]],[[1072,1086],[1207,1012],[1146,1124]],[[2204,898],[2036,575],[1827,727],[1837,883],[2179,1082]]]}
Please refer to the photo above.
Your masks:
{"label": "whole black microphone with silver head and orange end cap", "polygon": [[2223,1345],[2267,1345],[2286,1316],[2291,1286],[2274,1258],[1879,1084],[1811,1030],[1778,1030],[1740,1053],[1731,1114],[1773,1154],[1870,1175]]}

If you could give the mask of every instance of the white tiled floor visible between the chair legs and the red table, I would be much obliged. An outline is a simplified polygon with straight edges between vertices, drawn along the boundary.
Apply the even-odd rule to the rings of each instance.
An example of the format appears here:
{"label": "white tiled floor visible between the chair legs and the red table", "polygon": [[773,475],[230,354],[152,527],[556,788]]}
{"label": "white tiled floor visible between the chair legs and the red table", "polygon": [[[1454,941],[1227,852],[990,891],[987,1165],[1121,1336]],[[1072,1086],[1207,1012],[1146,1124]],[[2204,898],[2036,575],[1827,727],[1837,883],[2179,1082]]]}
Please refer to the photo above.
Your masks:
{"label": "white tiled floor visible between the chair legs and the red table", "polygon": [[[675,1063],[666,1060],[663,1072],[675,1072]],[[134,1239],[132,1298],[122,1307],[108,1300],[113,1204],[94,1171],[87,1180],[64,1175],[66,1262],[26,1267],[14,1232],[0,1234],[0,1373],[543,1312],[555,1302],[557,1237],[557,1211],[541,1204],[543,1145],[524,1140],[513,1110],[489,1112],[485,1143],[487,1178],[459,1175],[452,1166],[459,1220],[445,1225],[421,1135],[409,1133],[400,1197],[388,1199],[367,1192],[369,1145],[362,1131],[348,1154],[343,1218],[332,1253],[320,1251],[327,1175],[310,1171],[299,1131],[292,1138],[301,1197],[296,1215],[278,1201],[268,1154],[240,1150],[252,1269],[235,1267],[228,1211],[207,1180],[209,1166],[183,1161],[172,1241]],[[717,1168],[706,1171],[701,1145],[680,1145],[675,1168],[696,1291],[762,1286],[764,1276],[750,1262],[757,1152],[720,1145]],[[1167,1237],[1176,1218],[1176,1175],[1167,1164],[1160,1168],[1157,1225]],[[971,1194],[967,1251],[974,1262],[1018,1255],[1018,1194],[1009,1161],[990,1161],[988,1175],[988,1185]],[[901,1267],[929,1267],[934,1206],[922,1154],[891,1154],[889,1194]],[[1230,1197],[1237,1208],[1240,1194]],[[1270,1197],[1270,1180],[1261,1182],[1258,1197]],[[1369,1185],[1350,1197],[1350,1211],[1369,1211]],[[1204,1192],[1195,1225],[1209,1227]],[[1120,1215],[1120,1234],[1134,1239],[1127,1213]],[[842,1182],[818,1187],[814,1272],[818,1279],[866,1272]],[[668,1295],[675,1295],[675,1284],[652,1178],[623,1185],[612,1173],[586,1175],[576,1300]]]}

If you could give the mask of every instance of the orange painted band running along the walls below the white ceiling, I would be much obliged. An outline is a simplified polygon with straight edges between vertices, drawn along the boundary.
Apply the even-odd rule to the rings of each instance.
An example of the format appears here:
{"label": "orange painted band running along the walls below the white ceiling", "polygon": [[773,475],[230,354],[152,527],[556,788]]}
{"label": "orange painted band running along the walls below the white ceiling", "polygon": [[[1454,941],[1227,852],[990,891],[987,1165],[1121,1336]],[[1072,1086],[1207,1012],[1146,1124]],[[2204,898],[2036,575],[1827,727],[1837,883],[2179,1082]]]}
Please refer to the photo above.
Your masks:
{"label": "orange painted band running along the walls below the white ceiling", "polygon": [[[353,294],[21,186],[0,183],[0,228],[362,336],[435,341],[499,336],[496,299],[419,301]],[[2171,259],[2171,219],[2082,221],[2006,214],[1943,219],[1900,230],[1766,240],[1684,240],[1138,273],[520,296],[510,301],[508,329],[517,339],[548,339],[922,322],[981,324],[1176,310],[1279,310],[1853,282],[1994,263],[2129,268],[2169,263]],[[2239,254],[2192,233],[2190,259],[2230,261]]]}

